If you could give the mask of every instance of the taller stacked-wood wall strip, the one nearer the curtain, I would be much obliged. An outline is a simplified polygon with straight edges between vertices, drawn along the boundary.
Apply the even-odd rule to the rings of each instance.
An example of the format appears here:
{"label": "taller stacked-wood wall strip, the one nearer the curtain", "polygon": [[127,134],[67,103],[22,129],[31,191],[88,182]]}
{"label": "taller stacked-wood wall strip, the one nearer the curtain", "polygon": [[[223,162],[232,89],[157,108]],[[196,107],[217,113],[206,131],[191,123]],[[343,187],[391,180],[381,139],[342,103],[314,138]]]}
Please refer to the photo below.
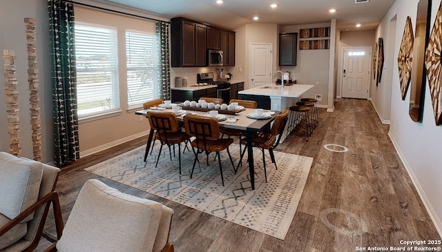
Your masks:
{"label": "taller stacked-wood wall strip, the one nearer the curtain", "polygon": [[25,18],[28,47],[28,82],[30,90],[30,125],[32,129],[32,153],[34,159],[43,162],[41,150],[41,118],[39,107],[39,72],[37,69],[37,49],[35,46],[35,19]]}

